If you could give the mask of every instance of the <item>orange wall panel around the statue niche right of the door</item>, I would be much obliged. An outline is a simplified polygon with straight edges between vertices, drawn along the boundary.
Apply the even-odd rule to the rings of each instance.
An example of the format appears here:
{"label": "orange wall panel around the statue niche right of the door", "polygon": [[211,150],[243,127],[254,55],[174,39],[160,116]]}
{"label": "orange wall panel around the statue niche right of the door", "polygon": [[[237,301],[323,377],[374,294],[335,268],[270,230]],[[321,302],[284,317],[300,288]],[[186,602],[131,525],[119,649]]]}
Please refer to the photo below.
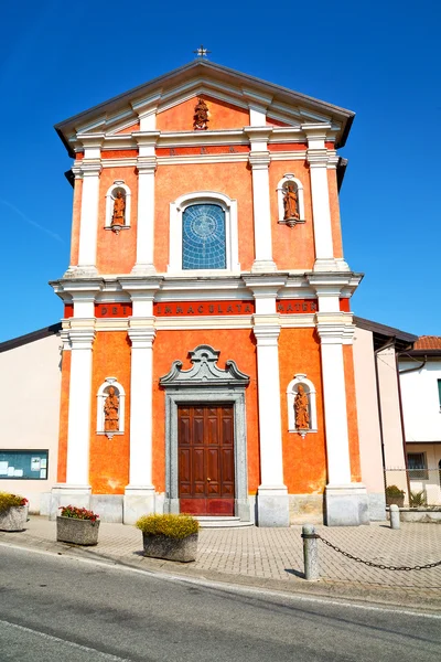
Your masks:
{"label": "orange wall panel around the statue niche right of the door", "polygon": [[[326,445],[320,341],[314,329],[282,329],[279,337],[283,480],[290,494],[322,494],[326,485]],[[287,387],[304,373],[316,388],[318,429],[302,437],[288,431]]]}

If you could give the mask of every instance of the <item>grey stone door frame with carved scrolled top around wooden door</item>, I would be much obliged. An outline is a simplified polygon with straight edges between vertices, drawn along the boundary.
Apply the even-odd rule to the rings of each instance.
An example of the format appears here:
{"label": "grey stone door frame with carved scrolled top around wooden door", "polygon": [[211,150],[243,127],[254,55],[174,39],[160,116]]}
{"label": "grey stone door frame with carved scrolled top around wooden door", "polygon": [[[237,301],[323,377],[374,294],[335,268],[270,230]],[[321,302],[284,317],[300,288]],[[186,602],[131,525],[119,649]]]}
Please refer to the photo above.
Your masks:
{"label": "grey stone door frame with carved scrolled top around wooden door", "polygon": [[178,406],[233,404],[234,460],[235,460],[235,515],[245,522],[251,520],[248,501],[247,426],[245,388],[248,375],[240,373],[234,361],[227,361],[227,370],[215,365],[219,352],[209,345],[198,345],[190,352],[194,364],[182,371],[182,363],[174,361],[168,375],[160,380],[165,389],[165,501],[164,512],[179,513],[178,484]]}

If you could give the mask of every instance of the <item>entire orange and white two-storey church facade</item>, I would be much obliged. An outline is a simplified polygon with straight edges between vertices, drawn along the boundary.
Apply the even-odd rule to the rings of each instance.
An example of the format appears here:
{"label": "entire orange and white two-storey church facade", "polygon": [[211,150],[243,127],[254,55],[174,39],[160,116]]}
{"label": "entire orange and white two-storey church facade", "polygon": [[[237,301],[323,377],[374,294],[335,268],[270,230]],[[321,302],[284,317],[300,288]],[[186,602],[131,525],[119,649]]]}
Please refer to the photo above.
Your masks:
{"label": "entire orange and white two-storey church facade", "polygon": [[353,113],[196,60],[56,126],[73,158],[60,504],[368,523],[337,154]]}

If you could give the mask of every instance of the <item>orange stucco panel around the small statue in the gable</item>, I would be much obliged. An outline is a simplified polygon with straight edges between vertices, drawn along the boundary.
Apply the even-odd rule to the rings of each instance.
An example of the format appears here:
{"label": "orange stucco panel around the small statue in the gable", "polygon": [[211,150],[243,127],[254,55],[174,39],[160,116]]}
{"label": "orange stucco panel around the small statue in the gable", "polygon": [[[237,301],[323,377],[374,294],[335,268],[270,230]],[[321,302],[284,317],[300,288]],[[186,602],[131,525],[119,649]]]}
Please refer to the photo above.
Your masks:
{"label": "orange stucco panel around the small statue in the gable", "polygon": [[194,108],[203,98],[208,107],[208,130],[237,129],[249,126],[249,111],[232,104],[202,95],[193,97],[173,108],[158,113],[158,131],[193,131]]}

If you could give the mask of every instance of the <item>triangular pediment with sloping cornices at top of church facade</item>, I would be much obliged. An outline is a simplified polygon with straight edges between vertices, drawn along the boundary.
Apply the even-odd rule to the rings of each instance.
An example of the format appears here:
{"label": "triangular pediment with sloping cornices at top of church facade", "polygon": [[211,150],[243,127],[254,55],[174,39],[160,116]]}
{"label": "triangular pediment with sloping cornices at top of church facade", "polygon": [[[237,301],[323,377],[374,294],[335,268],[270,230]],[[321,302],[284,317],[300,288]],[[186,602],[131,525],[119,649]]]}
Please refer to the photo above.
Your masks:
{"label": "triangular pediment with sloping cornices at top of church facade", "polygon": [[[252,109],[265,113],[275,127],[326,124],[336,146],[344,143],[354,114],[207,61],[194,61],[56,125],[69,151],[78,135],[120,136],[139,130],[142,117],[154,113],[161,131],[193,130],[195,100],[206,99],[212,114],[208,130],[243,128]],[[181,115],[182,117],[178,118]],[[189,116],[189,117],[186,117]],[[142,130],[142,129],[141,129]]]}

